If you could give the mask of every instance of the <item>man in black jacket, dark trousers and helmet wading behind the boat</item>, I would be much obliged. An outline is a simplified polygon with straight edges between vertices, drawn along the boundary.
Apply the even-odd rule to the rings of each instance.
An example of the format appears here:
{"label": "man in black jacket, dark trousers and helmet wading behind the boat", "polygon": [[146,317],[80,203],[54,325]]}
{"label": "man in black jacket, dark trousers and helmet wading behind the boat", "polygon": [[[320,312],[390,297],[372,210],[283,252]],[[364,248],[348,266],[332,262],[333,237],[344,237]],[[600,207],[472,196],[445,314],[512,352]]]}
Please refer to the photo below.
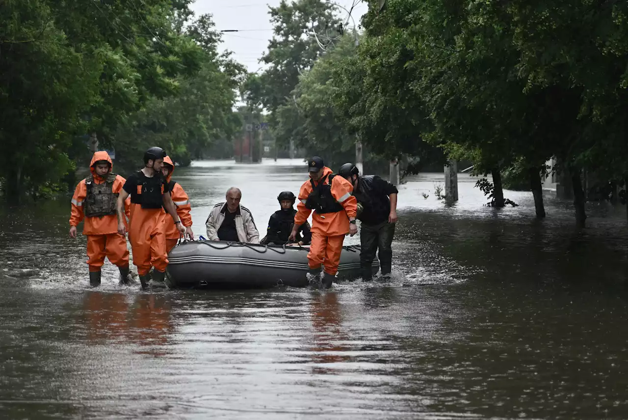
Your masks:
{"label": "man in black jacket, dark trousers and helmet wading behind the boat", "polygon": [[[338,175],[354,185],[353,195],[358,202],[357,218],[360,220],[360,268],[362,279],[371,280],[372,261],[377,257],[382,275],[391,273],[393,264],[394,226],[397,221],[397,187],[377,175],[360,177],[353,163],[340,167]],[[362,210],[360,211],[360,207]]]}

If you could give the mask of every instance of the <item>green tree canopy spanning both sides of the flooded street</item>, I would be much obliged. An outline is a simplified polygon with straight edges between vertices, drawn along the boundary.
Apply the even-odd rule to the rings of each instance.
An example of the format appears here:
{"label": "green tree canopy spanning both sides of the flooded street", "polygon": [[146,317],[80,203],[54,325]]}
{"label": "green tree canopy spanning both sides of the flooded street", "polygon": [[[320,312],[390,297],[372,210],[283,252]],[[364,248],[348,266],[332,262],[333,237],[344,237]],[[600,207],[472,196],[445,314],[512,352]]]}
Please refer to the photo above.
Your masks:
{"label": "green tree canopy spanning both sides of the flooded street", "polygon": [[[190,2],[4,1],[7,196],[58,184],[90,135],[123,164],[154,143],[185,164],[212,145],[227,153],[262,113],[279,146],[332,165],[359,141],[365,160],[471,160],[496,197],[501,172],[518,174],[539,216],[555,157],[582,225],[583,172],[628,177],[628,3],[369,0],[354,33],[333,3],[282,0],[269,8],[264,70],[246,74]],[[234,111],[237,91],[246,108]]]}

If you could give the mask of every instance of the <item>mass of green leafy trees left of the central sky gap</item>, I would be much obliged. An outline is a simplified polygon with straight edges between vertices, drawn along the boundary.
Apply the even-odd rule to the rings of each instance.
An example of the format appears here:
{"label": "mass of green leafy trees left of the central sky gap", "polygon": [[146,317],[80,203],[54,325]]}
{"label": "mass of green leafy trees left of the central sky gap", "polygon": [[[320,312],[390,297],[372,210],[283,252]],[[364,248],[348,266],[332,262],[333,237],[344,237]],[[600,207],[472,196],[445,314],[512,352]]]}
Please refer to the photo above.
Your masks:
{"label": "mass of green leafy trees left of the central sky gap", "polygon": [[190,3],[3,2],[0,181],[10,201],[53,191],[46,185],[86,158],[91,133],[122,162],[154,144],[186,162],[233,133],[244,69],[217,53],[210,16],[190,21]]}

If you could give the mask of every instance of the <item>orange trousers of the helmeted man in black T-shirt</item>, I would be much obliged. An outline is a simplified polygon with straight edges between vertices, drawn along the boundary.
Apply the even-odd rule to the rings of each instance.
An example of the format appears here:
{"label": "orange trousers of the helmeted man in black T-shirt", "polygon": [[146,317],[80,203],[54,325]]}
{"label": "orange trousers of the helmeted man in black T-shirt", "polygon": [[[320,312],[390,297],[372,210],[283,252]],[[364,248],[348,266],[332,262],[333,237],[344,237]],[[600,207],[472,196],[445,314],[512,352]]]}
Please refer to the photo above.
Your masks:
{"label": "orange trousers of the helmeted man in black T-shirt", "polygon": [[151,267],[160,272],[168,267],[163,217],[161,209],[143,209],[141,204],[131,204],[129,242],[138,275],[148,274]]}

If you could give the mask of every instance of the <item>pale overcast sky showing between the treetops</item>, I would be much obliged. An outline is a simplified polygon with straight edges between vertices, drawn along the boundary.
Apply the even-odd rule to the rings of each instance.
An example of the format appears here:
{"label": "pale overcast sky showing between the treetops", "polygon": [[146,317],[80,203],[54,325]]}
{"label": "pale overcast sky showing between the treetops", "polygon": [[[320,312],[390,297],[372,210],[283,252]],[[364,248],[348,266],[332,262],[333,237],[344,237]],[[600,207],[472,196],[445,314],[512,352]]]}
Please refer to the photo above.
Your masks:
{"label": "pale overcast sky showing between the treetops", "polygon": [[[367,4],[359,0],[335,0],[333,3],[346,9],[351,9],[352,4],[357,3],[351,13],[357,25],[360,24],[362,14],[367,11]],[[246,65],[250,72],[255,72],[261,67],[257,60],[273,36],[268,6],[278,5],[279,0],[196,0],[192,9],[197,16],[213,14],[217,30],[239,30],[237,33],[224,34],[221,49],[234,52],[238,62]],[[344,19],[347,12],[338,9],[338,16]]]}

